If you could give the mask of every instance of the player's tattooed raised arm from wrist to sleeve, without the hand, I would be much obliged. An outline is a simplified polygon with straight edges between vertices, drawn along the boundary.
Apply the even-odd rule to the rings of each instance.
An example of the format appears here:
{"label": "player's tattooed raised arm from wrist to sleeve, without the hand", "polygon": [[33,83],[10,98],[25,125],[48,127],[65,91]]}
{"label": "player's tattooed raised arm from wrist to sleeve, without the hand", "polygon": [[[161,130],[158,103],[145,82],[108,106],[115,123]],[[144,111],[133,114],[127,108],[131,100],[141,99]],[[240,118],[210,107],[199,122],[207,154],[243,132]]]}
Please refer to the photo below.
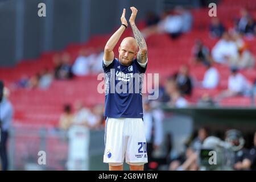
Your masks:
{"label": "player's tattooed raised arm from wrist to sleeve, without the hand", "polygon": [[[133,26],[131,26],[131,28],[133,30],[133,34],[134,34],[135,39],[139,46],[139,52],[138,52],[137,58],[139,61],[144,63],[147,59],[147,51],[145,51],[145,50],[147,50],[146,41],[144,40],[143,36],[141,35],[141,32],[138,30],[138,28],[135,24]],[[142,51],[142,50],[144,50],[144,51]]]}

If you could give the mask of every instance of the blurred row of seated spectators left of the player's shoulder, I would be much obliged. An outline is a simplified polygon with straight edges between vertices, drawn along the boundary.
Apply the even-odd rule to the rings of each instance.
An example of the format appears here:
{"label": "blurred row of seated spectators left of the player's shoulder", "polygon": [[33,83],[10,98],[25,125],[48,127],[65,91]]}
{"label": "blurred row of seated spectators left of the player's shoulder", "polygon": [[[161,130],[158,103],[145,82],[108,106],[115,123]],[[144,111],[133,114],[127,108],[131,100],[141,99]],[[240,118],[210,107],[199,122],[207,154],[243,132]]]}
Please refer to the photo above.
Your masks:
{"label": "blurred row of seated spectators left of the player's shoulder", "polygon": [[81,48],[75,60],[70,53],[56,53],[53,69],[44,68],[35,75],[23,75],[14,83],[14,88],[48,89],[53,80],[72,80],[76,76],[86,76],[102,72],[102,48]]}

